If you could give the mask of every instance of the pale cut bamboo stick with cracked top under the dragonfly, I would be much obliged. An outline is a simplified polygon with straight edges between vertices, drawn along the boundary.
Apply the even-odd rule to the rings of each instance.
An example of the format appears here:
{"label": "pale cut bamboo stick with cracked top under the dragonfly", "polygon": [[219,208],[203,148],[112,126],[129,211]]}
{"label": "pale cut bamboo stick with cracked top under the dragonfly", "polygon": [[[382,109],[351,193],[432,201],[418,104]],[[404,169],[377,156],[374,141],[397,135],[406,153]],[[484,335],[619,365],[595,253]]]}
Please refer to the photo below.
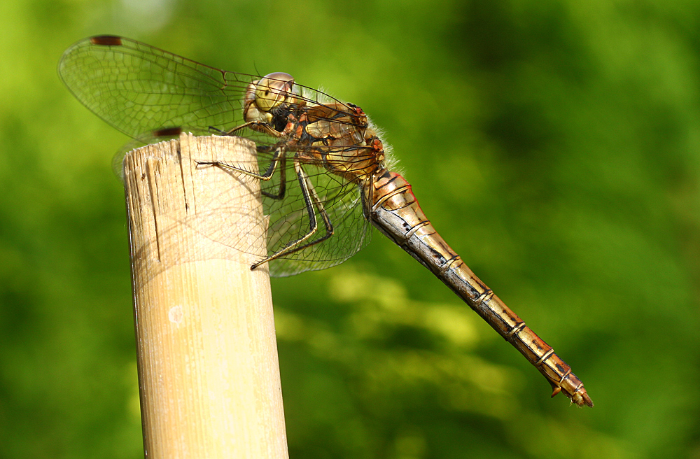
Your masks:
{"label": "pale cut bamboo stick with cracked top under the dragonfly", "polygon": [[125,157],[147,458],[288,458],[258,184],[194,162],[253,155],[182,134]]}

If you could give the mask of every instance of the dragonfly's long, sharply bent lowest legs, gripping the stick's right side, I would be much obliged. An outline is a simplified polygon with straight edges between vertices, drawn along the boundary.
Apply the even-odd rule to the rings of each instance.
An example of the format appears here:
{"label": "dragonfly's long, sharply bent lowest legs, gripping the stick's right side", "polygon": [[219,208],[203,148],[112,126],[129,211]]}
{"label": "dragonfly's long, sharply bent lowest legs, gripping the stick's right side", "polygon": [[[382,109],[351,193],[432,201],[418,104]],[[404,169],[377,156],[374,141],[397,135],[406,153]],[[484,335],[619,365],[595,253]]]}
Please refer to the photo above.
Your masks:
{"label": "dragonfly's long, sharply bent lowest legs, gripping the stick's right side", "polygon": [[[330,221],[330,217],[328,216],[328,212],[325,211],[321,198],[318,197],[318,194],[314,189],[314,185],[309,182],[309,176],[307,176],[306,172],[304,172],[304,169],[302,169],[302,166],[298,160],[294,161],[294,169],[297,173],[302,195],[304,196],[304,202],[306,203],[307,213],[309,214],[309,232],[304,234],[304,236],[302,236],[300,239],[288,243],[284,248],[278,250],[272,255],[269,255],[269,257],[265,257],[265,259],[256,262],[251,266],[251,269],[255,269],[261,264],[272,261],[283,255],[289,255],[290,253],[295,253],[304,248],[313,246],[314,244],[323,242],[325,239],[328,239],[333,235],[333,225]],[[325,226],[325,234],[314,241],[306,242],[316,233],[316,231],[318,231],[318,221],[316,220],[316,212],[314,211],[314,208],[318,209],[318,213],[321,213],[321,219],[323,220],[323,225]]]}

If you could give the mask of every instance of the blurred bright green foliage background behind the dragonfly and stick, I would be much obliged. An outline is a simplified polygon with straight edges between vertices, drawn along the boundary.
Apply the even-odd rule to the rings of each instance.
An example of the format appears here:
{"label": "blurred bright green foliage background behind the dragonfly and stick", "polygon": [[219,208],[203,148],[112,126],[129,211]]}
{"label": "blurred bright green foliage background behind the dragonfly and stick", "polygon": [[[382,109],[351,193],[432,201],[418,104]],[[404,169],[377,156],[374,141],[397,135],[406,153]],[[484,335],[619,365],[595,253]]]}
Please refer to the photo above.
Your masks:
{"label": "blurred bright green foliage background behind the dragonfly and stick", "polygon": [[120,34],[386,130],[545,379],[378,232],[272,283],[291,458],[700,458],[700,1],[0,3],[0,458],[139,458],[128,141],[59,81]]}

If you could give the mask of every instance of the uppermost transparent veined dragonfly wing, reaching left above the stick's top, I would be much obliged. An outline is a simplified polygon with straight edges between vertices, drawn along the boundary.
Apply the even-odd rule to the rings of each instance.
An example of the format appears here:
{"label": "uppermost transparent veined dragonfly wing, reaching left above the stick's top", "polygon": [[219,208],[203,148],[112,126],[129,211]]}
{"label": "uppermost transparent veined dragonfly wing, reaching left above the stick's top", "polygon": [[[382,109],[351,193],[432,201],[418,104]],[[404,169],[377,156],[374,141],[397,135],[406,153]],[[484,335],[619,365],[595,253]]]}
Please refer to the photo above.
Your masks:
{"label": "uppermost transparent veined dragonfly wing, reaching left above the stick's top", "polygon": [[166,127],[207,133],[209,126],[241,124],[240,100],[252,79],[118,37],[86,38],[72,45],[58,73],[99,118],[144,141],[148,133]]}

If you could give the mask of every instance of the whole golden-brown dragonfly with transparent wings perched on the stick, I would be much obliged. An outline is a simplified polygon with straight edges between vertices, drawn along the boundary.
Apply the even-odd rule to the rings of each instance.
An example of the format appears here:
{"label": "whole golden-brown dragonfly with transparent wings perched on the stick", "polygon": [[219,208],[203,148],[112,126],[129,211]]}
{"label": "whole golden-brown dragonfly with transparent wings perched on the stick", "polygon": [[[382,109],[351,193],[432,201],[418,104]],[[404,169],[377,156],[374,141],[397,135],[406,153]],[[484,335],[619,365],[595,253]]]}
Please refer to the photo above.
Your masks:
{"label": "whole golden-brown dragonfly with transparent wings perched on the stick", "polygon": [[552,397],[593,407],[581,380],[467,267],[393,171],[387,146],[359,106],[295,82],[224,71],[120,36],[71,45],[58,66],[83,105],[143,143],[181,132],[243,136],[258,164],[198,162],[260,181],[270,275],[342,263],[372,227],[423,264],[545,376]]}

